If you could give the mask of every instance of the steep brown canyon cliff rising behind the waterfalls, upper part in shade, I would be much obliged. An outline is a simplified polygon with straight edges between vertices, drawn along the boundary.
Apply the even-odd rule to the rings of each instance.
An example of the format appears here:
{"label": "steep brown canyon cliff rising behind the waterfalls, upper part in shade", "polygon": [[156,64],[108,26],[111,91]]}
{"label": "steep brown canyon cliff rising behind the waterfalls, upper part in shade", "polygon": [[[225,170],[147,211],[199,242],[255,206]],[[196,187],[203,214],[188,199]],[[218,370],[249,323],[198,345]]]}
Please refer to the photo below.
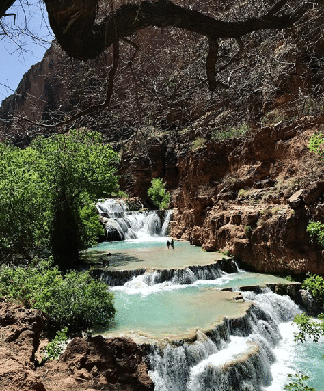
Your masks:
{"label": "steep brown canyon cliff rising behind the waterfalls, upper part in shade", "polygon": [[[230,19],[231,10],[214,11]],[[324,273],[324,249],[306,233],[308,221],[324,217],[323,168],[307,146],[323,131],[322,22],[309,10],[284,33],[256,31],[237,57],[237,42],[221,41],[217,79],[230,88],[213,94],[202,77],[202,36],[139,31],[133,44],[120,42],[111,106],[68,126],[103,133],[122,157],[121,189],[144,204],[152,178],[166,181],[177,210],[174,237],[229,250],[259,271]],[[53,44],[3,101],[2,139],[23,146],[37,134],[68,130],[38,122],[102,103],[110,66],[111,51],[85,64]]]}

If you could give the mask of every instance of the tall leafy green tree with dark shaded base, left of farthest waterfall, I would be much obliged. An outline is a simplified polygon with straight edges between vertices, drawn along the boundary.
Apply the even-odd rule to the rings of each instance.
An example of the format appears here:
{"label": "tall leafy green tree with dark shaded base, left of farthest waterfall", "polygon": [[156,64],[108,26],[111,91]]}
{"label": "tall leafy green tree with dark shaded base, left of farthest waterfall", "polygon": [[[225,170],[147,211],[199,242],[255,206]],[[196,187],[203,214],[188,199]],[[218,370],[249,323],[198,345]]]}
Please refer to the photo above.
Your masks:
{"label": "tall leafy green tree with dark shaded base, left of farthest waterfall", "polygon": [[98,133],[38,137],[23,149],[0,145],[0,250],[31,260],[77,262],[102,228],[94,201],[118,187],[118,155]]}

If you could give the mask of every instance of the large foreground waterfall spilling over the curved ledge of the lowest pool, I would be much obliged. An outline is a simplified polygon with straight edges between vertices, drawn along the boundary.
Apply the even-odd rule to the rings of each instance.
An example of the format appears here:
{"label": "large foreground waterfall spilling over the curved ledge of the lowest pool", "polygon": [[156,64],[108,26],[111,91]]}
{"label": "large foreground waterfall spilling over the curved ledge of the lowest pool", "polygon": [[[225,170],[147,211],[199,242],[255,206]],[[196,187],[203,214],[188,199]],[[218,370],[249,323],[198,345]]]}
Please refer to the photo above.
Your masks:
{"label": "large foreground waterfall spilling over the curved ledge of the lowest pool", "polygon": [[148,355],[155,391],[260,391],[273,381],[271,364],[280,342],[278,324],[299,307],[289,297],[245,292],[253,301],[242,318],[224,319],[195,342],[154,345]]}

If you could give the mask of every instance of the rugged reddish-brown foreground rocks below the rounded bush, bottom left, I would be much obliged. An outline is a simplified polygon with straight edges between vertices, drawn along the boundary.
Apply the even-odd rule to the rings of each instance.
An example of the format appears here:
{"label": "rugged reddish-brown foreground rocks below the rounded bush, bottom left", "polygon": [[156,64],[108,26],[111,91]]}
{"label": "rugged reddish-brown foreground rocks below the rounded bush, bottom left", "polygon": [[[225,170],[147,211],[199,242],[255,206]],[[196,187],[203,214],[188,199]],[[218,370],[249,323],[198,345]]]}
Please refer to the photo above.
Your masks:
{"label": "rugged reddish-brown foreground rocks below the rounded bush, bottom left", "polygon": [[74,338],[59,362],[36,366],[45,317],[0,298],[0,390],[154,390],[144,353],[130,338]]}

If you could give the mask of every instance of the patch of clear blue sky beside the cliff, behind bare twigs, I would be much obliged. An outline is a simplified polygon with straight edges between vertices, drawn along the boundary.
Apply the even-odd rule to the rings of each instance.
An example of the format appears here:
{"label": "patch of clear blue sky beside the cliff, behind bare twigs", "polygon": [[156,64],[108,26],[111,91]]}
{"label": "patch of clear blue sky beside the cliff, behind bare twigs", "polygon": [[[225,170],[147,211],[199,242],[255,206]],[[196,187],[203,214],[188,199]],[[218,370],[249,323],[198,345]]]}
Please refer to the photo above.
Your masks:
{"label": "patch of clear blue sky beside the cliff, behind bare twigs", "polygon": [[[3,36],[0,27],[0,102],[16,90],[24,73],[42,59],[53,39],[40,0],[29,1],[24,7],[16,1],[8,13],[16,14],[16,21],[13,16],[1,19],[8,36]],[[18,30],[23,30],[19,36]]]}

